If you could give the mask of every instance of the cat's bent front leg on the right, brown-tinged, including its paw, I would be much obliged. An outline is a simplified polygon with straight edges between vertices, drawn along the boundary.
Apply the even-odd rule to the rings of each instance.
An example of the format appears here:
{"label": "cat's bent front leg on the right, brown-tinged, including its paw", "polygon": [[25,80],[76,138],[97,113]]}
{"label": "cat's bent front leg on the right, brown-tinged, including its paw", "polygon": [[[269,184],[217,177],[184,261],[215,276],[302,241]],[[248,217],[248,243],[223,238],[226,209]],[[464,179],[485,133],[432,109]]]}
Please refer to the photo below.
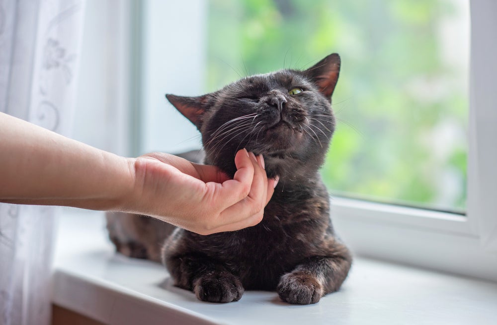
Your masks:
{"label": "cat's bent front leg on the right, brown-tinged, including its paw", "polygon": [[352,259],[345,246],[343,254],[313,257],[283,274],[277,287],[283,301],[290,304],[315,304],[327,293],[337,291],[350,269]]}

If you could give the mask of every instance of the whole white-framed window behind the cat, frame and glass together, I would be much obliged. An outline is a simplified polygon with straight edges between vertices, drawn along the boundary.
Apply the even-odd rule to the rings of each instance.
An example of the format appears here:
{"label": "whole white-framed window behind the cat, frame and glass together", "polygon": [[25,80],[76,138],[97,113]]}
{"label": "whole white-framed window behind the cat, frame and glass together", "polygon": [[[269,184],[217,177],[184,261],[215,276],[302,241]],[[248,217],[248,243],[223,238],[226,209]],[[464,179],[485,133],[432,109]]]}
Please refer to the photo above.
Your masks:
{"label": "whole white-framed window behind the cat, frame and glass together", "polygon": [[[497,92],[493,86],[497,4],[493,0],[385,0],[375,2],[376,6],[370,1],[339,1],[330,7],[329,2],[130,1],[119,2],[120,16],[107,3],[106,15],[113,20],[103,19],[103,11],[93,8],[118,31],[115,39],[107,39],[114,39],[121,50],[106,52],[106,60],[125,76],[116,82],[119,87],[107,88],[114,89],[107,96],[118,98],[111,104],[122,103],[130,110],[126,118],[114,121],[121,130],[120,140],[128,146],[136,143],[133,155],[198,147],[197,131],[167,104],[166,92],[198,95],[239,74],[283,66],[304,68],[338,52],[343,65],[333,108],[341,125],[331,144],[329,169],[323,173],[335,193],[349,195],[331,198],[339,235],[363,256],[497,280]],[[89,1],[87,6],[96,3]],[[297,23],[301,18],[305,22]],[[328,33],[320,34],[321,26]],[[264,34],[269,41],[262,41]],[[385,42],[397,46],[392,53]],[[129,63],[112,53],[128,53]],[[117,63],[116,57],[120,58]],[[103,68],[102,73],[109,80],[109,75],[117,79]],[[434,143],[444,136],[447,144]],[[414,147],[406,150],[404,141]],[[435,159],[430,144],[446,151]],[[389,155],[397,149],[400,158]],[[369,163],[363,154],[381,160]],[[418,174],[411,161],[423,166]],[[341,163],[345,165],[336,167]],[[361,166],[366,170],[354,175]],[[376,182],[380,176],[375,174],[387,179],[386,185]],[[362,179],[368,183],[363,187]]]}

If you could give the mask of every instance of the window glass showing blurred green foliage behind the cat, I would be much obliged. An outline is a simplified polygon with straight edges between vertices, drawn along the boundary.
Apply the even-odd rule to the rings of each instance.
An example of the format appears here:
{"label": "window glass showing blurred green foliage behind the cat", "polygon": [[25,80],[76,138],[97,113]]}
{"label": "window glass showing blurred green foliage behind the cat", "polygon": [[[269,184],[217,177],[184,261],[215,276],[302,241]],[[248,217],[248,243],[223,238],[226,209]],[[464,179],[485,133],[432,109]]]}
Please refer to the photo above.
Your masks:
{"label": "window glass showing blurred green foliage behind the cat", "polygon": [[206,91],[336,52],[335,195],[464,211],[467,0],[211,0]]}

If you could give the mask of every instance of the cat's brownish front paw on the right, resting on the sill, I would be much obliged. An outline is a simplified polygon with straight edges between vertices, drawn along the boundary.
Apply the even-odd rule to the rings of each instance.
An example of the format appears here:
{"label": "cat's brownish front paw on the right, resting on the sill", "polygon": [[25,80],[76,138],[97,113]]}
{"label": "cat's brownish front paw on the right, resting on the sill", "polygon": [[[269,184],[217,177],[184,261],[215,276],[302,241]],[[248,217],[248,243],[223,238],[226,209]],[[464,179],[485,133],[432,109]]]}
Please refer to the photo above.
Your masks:
{"label": "cat's brownish front paw on the right, resting on the sill", "polygon": [[304,272],[284,274],[276,290],[281,300],[298,305],[315,304],[325,294],[321,281]]}

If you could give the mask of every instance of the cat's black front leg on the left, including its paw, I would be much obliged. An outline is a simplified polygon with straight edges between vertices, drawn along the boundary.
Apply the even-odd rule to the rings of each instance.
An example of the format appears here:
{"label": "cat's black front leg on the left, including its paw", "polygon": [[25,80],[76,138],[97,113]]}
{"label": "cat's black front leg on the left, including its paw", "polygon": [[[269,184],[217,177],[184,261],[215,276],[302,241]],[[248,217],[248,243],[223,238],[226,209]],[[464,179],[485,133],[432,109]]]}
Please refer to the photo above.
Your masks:
{"label": "cat's black front leg on the left, including its paw", "polygon": [[238,301],[245,291],[240,278],[222,263],[205,256],[186,255],[166,259],[174,285],[191,290],[202,301]]}

